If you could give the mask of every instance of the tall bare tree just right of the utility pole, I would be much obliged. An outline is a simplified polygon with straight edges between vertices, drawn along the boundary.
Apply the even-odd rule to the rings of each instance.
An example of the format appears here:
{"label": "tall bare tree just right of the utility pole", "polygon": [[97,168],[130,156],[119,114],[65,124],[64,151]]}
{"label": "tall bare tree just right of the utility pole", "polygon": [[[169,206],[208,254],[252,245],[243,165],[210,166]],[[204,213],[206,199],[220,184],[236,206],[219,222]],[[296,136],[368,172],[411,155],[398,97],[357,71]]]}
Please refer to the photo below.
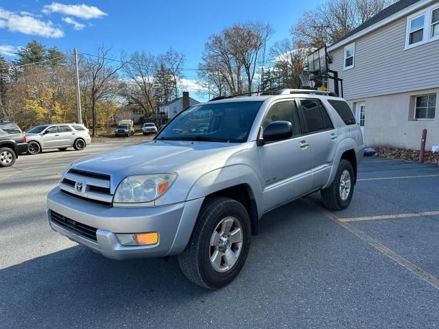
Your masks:
{"label": "tall bare tree just right of the utility pole", "polygon": [[[93,136],[97,133],[97,102],[118,94],[120,84],[117,73],[126,64],[123,53],[120,60],[116,60],[110,55],[110,51],[110,48],[100,46],[97,55],[86,58],[82,67],[84,72],[82,89],[88,97],[87,103],[92,114]],[[115,63],[117,64],[112,66]]]}

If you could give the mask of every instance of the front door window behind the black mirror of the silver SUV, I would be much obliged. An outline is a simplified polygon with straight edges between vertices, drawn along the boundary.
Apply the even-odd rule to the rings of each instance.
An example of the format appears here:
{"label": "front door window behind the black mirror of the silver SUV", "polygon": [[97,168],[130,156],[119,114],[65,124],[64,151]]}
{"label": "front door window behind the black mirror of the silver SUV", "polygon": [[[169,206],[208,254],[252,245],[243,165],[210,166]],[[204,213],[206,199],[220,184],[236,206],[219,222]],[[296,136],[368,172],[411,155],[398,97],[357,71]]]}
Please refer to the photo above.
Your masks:
{"label": "front door window behind the black mirror of the silver SUV", "polygon": [[293,126],[293,136],[298,136],[302,132],[300,130],[299,114],[295,101],[279,101],[274,103],[268,110],[265,119],[263,119],[262,127],[265,129],[273,121],[289,121]]}

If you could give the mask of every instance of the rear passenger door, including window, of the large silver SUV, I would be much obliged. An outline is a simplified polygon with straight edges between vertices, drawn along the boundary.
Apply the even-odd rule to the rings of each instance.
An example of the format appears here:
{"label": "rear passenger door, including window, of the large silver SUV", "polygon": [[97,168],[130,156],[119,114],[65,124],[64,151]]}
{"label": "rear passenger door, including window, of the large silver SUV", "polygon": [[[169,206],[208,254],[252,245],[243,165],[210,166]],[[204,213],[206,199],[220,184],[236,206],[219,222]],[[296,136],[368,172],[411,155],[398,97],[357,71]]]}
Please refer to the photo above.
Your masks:
{"label": "rear passenger door, including window, of the large silver SUV", "polygon": [[299,99],[300,115],[306,126],[306,140],[311,147],[313,189],[329,180],[331,165],[337,151],[339,133],[319,99]]}

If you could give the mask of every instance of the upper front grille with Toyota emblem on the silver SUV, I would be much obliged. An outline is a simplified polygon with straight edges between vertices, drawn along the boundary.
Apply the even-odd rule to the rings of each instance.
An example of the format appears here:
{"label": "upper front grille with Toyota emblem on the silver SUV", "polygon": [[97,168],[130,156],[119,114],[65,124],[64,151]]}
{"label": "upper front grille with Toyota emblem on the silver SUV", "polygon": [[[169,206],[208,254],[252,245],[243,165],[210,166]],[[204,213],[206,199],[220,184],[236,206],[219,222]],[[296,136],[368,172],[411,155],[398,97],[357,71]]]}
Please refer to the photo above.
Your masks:
{"label": "upper front grille with Toyota emblem on the silver SUV", "polygon": [[65,195],[99,206],[112,206],[110,175],[82,169],[70,169],[62,178],[60,190]]}

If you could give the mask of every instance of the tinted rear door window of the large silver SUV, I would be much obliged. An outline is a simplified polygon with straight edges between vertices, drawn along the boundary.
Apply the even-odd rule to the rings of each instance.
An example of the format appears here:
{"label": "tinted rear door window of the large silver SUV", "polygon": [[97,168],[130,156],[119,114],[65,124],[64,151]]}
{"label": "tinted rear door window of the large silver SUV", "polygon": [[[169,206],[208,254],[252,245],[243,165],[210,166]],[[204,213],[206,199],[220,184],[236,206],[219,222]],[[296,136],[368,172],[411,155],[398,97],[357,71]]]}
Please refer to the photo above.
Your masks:
{"label": "tinted rear door window of the large silver SUV", "polygon": [[300,106],[307,123],[308,133],[333,129],[327,110],[323,108],[320,101],[317,99],[300,99]]}

